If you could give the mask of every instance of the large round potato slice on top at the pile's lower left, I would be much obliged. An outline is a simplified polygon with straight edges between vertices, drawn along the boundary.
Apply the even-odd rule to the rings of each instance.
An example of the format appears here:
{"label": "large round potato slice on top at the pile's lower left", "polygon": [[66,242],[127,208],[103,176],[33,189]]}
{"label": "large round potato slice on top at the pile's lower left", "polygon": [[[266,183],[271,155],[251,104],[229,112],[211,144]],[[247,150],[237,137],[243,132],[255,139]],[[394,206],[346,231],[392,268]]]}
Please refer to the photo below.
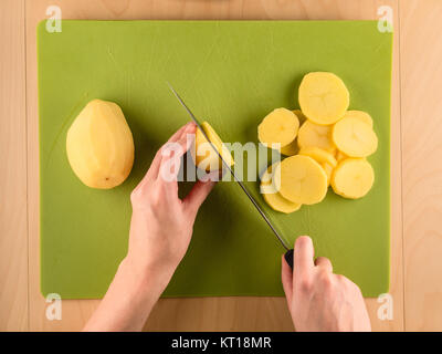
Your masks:
{"label": "large round potato slice on top at the pile's lower left", "polygon": [[327,175],[312,157],[295,155],[284,159],[275,169],[276,190],[297,204],[319,202],[327,194]]}

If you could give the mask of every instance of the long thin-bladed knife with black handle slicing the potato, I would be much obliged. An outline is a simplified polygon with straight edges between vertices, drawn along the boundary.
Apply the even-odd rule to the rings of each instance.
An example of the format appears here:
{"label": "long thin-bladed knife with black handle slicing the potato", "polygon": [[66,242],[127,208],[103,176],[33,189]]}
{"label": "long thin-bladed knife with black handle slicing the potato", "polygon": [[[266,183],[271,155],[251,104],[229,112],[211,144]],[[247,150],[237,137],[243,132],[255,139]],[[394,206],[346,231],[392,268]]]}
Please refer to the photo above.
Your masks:
{"label": "long thin-bladed knife with black handle slicing the potato", "polygon": [[218,156],[220,157],[222,164],[224,165],[224,167],[227,169],[229,169],[229,171],[232,174],[233,179],[235,183],[238,183],[241,187],[241,189],[245,192],[245,195],[248,196],[249,200],[252,201],[253,206],[256,208],[257,212],[261,215],[261,217],[264,219],[264,221],[269,225],[269,227],[272,229],[273,233],[276,236],[277,240],[280,241],[280,243],[284,247],[284,249],[286,250],[285,254],[284,254],[284,259],[287,262],[287,264],[292,268],[293,270],[293,249],[288,248],[287,244],[285,243],[284,239],[281,237],[281,235],[276,231],[276,228],[272,225],[272,222],[270,221],[270,219],[266,217],[266,215],[264,214],[264,211],[261,209],[261,207],[257,205],[256,200],[253,198],[253,196],[250,194],[250,191],[248,190],[248,188],[244,186],[244,184],[236,177],[234,170],[230,167],[230,165],[224,160],[224,158],[221,156],[220,152],[214,147],[214,145],[212,144],[212,142],[209,139],[208,135],[206,134],[204,129],[201,127],[201,124],[198,122],[197,117],[193,115],[193,113],[190,111],[190,108],[186,105],[186,103],[182,101],[182,98],[179,96],[179,94],[175,91],[175,88],[169,84],[169,88],[170,91],[173,93],[173,95],[177,97],[177,100],[179,101],[179,103],[185,107],[185,110],[187,111],[187,113],[190,115],[190,117],[192,118],[192,121],[194,122],[194,124],[197,124],[198,128],[200,129],[200,132],[202,133],[202,135],[206,137],[206,139],[209,142],[210,146],[213,148],[213,150],[217,152]]}

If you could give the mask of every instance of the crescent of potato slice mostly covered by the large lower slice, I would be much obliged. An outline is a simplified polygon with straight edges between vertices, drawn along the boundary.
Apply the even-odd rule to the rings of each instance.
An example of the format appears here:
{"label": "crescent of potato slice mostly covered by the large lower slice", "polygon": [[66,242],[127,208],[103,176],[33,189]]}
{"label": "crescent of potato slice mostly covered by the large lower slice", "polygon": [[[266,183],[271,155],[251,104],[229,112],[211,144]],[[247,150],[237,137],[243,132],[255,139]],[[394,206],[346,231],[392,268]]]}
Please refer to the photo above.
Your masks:
{"label": "crescent of potato slice mostly covered by the large lower slice", "polygon": [[294,212],[301,208],[301,204],[296,204],[285,199],[281,196],[280,192],[276,191],[276,188],[273,184],[273,175],[275,173],[276,166],[280,165],[281,162],[274,163],[269,166],[269,168],[261,176],[261,194],[265,202],[273,209],[280,212]]}

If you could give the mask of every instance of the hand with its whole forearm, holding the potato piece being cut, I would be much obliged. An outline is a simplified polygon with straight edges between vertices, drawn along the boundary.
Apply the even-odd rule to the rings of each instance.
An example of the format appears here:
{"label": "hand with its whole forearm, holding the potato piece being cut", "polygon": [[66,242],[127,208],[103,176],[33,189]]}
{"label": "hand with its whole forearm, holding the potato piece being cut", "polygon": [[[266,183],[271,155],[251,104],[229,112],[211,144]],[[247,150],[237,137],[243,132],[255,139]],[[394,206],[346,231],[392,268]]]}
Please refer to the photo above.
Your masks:
{"label": "hand with its whole forearm, holding the potato piece being cut", "polygon": [[183,199],[177,178],[162,178],[161,168],[181,157],[190,146],[188,134],[196,125],[181,127],[168,143],[180,153],[158,150],[146,176],[130,196],[133,216],[129,249],[85,331],[139,331],[169,283],[188,249],[198,209],[214,183],[198,181]]}

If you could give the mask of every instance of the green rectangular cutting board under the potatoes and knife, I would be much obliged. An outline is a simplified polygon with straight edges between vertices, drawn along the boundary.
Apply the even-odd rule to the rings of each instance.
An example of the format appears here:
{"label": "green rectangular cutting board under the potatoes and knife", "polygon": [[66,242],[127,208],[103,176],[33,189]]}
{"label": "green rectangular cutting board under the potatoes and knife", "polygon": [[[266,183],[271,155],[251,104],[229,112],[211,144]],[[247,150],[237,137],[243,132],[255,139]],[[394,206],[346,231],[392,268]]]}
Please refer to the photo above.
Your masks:
{"label": "green rectangular cutting board under the potatoes and knife", "polygon": [[[188,115],[166,81],[225,142],[256,142],[275,107],[295,108],[304,74],[329,71],[350,108],[371,114],[379,148],[372,190],[283,215],[248,187],[287,242],[309,235],[316,254],[366,296],[389,287],[390,79],[392,34],[375,21],[63,21],[38,28],[41,291],[101,298],[127,251],[129,194],[154,153]],[[129,178],[112,190],[85,187],[66,158],[66,132],[93,98],[120,105],[135,140]],[[284,249],[234,183],[203,204],[190,248],[165,296],[282,295]]]}

